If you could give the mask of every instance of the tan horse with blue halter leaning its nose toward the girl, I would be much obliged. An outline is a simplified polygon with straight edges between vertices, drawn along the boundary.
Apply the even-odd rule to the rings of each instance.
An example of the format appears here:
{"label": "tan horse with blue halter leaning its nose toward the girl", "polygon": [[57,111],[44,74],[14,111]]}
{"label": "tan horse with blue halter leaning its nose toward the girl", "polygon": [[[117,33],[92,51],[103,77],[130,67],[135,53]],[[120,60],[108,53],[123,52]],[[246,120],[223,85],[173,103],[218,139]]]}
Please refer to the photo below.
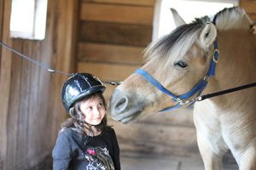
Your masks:
{"label": "tan horse with blue halter leaning its nose toward the girl", "polygon": [[[138,116],[193,105],[204,167],[221,168],[224,153],[239,169],[256,169],[256,89],[198,100],[256,80],[256,37],[243,8],[224,8],[186,24],[172,9],[176,29],[151,42],[143,66],[114,89],[109,113],[128,123]],[[165,110],[164,110],[165,111]]]}

